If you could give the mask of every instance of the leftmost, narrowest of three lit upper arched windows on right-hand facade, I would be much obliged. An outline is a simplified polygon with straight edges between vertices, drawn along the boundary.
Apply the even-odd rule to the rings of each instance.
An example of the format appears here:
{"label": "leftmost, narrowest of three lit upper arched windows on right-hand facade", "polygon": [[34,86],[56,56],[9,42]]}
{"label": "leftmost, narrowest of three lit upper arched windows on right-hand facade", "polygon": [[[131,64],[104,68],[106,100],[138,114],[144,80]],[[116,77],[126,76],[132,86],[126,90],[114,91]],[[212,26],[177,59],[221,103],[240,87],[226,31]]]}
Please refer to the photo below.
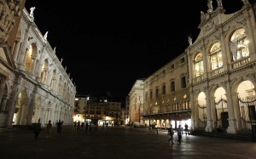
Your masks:
{"label": "leftmost, narrowest of three lit upper arched windows on right-hand facade", "polygon": [[200,77],[204,73],[203,56],[201,53],[195,56],[194,70],[194,77]]}

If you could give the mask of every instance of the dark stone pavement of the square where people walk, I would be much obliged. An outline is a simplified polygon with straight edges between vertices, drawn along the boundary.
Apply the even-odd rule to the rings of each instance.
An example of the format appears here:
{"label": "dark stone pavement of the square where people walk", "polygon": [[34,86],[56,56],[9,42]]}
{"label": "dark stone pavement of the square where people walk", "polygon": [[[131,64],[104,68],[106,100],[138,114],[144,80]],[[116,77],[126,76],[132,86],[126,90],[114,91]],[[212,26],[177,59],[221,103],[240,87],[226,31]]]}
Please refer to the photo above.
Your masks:
{"label": "dark stone pavement of the square where people walk", "polygon": [[52,129],[46,137],[46,130],[34,140],[32,130],[0,130],[1,159],[135,159],[135,158],[188,158],[188,159],[255,159],[256,143],[236,139],[219,139],[183,134],[178,145],[168,142],[166,131],[148,134],[144,128],[99,127],[91,133],[73,131],[64,126],[61,135]]}

